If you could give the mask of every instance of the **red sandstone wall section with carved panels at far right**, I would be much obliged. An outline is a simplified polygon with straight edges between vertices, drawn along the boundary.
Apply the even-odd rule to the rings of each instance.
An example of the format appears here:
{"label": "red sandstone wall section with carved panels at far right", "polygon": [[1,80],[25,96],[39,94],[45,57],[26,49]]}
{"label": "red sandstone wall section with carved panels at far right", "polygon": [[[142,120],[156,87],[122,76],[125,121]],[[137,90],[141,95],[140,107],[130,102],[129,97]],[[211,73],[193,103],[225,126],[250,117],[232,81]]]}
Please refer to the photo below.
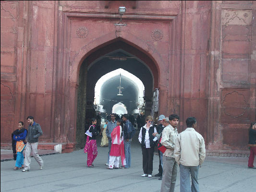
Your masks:
{"label": "red sandstone wall section with carved panels at far right", "polygon": [[209,149],[246,149],[256,119],[256,2],[214,1]]}

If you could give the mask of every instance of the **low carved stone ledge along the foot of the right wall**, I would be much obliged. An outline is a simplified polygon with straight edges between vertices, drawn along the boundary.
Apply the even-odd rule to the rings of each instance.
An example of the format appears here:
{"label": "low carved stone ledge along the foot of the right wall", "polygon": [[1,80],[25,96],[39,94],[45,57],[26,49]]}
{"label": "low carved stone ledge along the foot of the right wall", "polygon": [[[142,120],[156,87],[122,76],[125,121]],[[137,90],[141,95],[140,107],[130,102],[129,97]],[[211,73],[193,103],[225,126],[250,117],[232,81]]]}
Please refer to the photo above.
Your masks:
{"label": "low carved stone ledge along the foot of the right wall", "polygon": [[220,157],[249,157],[250,151],[232,151],[232,150],[206,150],[206,156]]}

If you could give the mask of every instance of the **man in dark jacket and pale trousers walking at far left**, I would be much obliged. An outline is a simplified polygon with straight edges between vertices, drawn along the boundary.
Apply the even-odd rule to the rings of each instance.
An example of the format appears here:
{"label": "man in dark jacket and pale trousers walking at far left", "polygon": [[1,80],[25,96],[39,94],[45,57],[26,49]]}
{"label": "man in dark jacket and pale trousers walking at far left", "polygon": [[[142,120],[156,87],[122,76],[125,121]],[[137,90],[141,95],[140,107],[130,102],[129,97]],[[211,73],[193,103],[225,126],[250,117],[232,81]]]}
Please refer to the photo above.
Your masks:
{"label": "man in dark jacket and pale trousers walking at far left", "polygon": [[43,134],[41,126],[34,121],[34,117],[32,116],[27,117],[27,122],[29,125],[27,129],[27,143],[25,149],[24,169],[22,170],[23,172],[29,171],[30,169],[31,151],[37,163],[39,164],[39,169],[43,169],[44,167],[44,162],[37,153],[38,137]]}

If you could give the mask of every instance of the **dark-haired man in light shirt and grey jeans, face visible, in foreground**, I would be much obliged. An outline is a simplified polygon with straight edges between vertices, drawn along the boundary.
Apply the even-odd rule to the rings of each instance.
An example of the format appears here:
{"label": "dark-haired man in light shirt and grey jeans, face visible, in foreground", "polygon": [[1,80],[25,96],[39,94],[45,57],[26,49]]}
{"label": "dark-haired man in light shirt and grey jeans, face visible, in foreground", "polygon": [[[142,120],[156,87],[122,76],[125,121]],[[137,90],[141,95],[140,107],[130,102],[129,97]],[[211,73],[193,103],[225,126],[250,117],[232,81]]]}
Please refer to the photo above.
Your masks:
{"label": "dark-haired man in light shirt and grey jeans, face visible, in foreground", "polygon": [[[168,123],[169,120],[169,123]],[[163,154],[163,176],[161,192],[174,192],[177,177],[177,162],[174,158],[175,140],[178,137],[177,125],[180,117],[172,114],[165,119],[166,127],[162,131],[161,144],[167,149]]]}

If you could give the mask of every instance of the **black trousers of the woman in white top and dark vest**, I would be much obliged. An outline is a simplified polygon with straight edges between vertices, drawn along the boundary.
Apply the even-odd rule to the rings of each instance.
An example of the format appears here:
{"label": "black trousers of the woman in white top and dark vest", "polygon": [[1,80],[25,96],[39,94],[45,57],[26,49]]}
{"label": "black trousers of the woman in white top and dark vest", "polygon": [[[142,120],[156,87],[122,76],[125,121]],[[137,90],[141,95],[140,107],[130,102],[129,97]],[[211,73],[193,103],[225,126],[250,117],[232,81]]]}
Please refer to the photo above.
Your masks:
{"label": "black trousers of the woman in white top and dark vest", "polygon": [[145,174],[152,175],[155,147],[150,147],[150,148],[141,147],[141,150],[142,150],[143,172]]}

